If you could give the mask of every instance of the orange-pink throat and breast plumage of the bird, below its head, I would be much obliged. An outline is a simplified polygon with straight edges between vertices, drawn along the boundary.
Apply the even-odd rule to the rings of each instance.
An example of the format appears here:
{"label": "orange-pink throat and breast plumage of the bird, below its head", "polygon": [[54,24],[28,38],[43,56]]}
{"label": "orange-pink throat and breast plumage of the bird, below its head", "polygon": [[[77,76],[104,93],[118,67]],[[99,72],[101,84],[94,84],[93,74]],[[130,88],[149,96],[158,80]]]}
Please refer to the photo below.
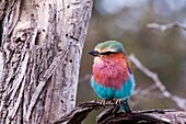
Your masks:
{"label": "orange-pink throat and breast plumage of the bird, below its head", "polygon": [[96,58],[93,65],[94,80],[104,87],[120,89],[129,77],[126,61],[125,56]]}

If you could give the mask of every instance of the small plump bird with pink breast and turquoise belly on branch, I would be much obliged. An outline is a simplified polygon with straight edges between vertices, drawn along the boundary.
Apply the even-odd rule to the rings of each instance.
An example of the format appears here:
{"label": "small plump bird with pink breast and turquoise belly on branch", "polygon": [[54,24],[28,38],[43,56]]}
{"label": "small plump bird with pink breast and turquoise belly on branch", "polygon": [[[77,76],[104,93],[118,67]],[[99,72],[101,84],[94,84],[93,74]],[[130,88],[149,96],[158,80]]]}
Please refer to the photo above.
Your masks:
{"label": "small plump bird with pink breast and turquoise belly on branch", "polygon": [[123,44],[117,41],[102,42],[89,54],[94,56],[91,86],[103,99],[102,104],[114,100],[123,112],[131,112],[128,99],[135,91],[136,82],[133,66]]}

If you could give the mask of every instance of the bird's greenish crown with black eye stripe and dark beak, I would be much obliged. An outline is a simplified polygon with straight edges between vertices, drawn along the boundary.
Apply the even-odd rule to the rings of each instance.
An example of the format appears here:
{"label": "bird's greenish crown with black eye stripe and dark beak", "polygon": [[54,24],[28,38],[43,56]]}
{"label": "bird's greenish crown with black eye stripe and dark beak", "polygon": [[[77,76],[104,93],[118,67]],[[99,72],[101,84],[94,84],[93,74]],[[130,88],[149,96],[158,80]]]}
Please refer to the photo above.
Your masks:
{"label": "bird's greenish crown with black eye stripe and dark beak", "polygon": [[126,55],[123,44],[116,41],[107,41],[100,43],[95,46],[94,50],[89,52],[90,55],[95,57],[108,57],[109,55]]}

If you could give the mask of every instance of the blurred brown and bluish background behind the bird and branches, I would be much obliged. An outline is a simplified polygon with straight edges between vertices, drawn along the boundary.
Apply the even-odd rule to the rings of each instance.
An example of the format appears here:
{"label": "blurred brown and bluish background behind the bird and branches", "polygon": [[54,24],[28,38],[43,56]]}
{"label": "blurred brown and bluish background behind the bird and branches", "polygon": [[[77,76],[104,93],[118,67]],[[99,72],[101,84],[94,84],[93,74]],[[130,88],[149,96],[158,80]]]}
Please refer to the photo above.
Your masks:
{"label": "blurred brown and bluish background behind the bird and branches", "polygon": [[[155,71],[170,92],[186,98],[186,31],[147,29],[151,22],[186,25],[186,0],[94,0],[81,60],[78,103],[100,100],[90,84],[93,57],[88,53],[97,43],[108,40],[121,42],[128,55],[133,53],[144,66]],[[136,89],[153,83],[137,69],[135,77]],[[143,95],[133,95],[130,105],[132,110],[178,109],[168,99]],[[91,113],[83,124],[95,124],[97,114]]]}

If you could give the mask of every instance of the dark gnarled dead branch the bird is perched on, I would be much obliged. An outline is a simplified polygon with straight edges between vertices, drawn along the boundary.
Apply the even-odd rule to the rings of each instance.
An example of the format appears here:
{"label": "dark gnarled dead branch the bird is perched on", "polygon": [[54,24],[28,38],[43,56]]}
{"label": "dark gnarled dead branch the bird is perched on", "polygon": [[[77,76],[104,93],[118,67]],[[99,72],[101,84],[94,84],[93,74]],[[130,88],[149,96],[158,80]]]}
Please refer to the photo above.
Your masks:
{"label": "dark gnarled dead branch the bird is perched on", "polygon": [[186,112],[175,110],[147,110],[132,113],[118,112],[119,105],[107,101],[103,106],[100,101],[88,101],[78,105],[70,113],[61,116],[54,124],[81,124],[93,110],[106,108],[96,117],[97,124],[182,124],[186,123]]}

